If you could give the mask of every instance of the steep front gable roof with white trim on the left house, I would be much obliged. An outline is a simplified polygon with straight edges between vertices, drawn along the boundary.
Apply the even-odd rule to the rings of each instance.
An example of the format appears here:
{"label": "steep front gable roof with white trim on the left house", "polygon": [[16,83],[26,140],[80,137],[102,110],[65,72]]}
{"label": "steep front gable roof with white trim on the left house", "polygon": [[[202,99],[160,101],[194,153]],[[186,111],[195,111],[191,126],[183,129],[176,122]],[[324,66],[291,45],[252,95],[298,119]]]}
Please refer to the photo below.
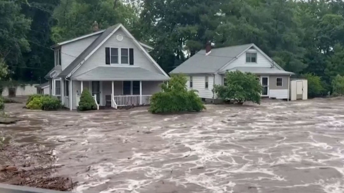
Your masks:
{"label": "steep front gable roof with white trim on the left house", "polygon": [[[119,28],[122,28],[123,31],[128,35],[129,38],[132,38],[134,43],[142,49],[146,56],[153,62],[153,64],[163,73],[165,76],[168,76],[165,71],[156,63],[156,61],[149,55],[149,53],[143,48],[142,43],[138,42],[131,33],[121,24],[112,25],[105,29],[83,52],[81,52],[78,57],[76,57],[60,74],[59,77],[69,77],[71,74],[85,62],[115,31]],[[144,44],[145,45],[145,44]],[[148,46],[148,45],[145,45]]]}

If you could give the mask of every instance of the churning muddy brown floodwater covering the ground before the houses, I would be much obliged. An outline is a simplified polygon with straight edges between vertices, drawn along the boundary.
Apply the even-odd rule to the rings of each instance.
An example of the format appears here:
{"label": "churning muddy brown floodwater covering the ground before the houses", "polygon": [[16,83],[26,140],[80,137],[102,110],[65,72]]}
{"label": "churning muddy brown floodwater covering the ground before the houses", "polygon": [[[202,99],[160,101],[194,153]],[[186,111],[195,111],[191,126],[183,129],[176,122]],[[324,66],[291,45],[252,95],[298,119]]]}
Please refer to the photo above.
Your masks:
{"label": "churning muddy brown floodwater covering the ground before the houses", "polygon": [[344,192],[344,98],[178,115],[15,105],[23,120],[1,129],[54,148],[75,192]]}

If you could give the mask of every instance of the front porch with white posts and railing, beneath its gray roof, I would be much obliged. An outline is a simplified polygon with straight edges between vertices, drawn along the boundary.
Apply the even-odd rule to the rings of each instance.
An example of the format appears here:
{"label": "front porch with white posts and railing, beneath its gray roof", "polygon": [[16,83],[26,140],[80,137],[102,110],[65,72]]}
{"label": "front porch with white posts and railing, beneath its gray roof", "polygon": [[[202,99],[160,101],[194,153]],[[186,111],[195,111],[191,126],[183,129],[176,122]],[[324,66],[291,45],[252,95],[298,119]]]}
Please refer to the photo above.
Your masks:
{"label": "front porch with white posts and railing, beneath its gray roof", "polygon": [[152,94],[161,90],[162,81],[73,81],[76,89],[76,107],[79,105],[80,95],[84,89],[92,94],[97,107],[149,105]]}

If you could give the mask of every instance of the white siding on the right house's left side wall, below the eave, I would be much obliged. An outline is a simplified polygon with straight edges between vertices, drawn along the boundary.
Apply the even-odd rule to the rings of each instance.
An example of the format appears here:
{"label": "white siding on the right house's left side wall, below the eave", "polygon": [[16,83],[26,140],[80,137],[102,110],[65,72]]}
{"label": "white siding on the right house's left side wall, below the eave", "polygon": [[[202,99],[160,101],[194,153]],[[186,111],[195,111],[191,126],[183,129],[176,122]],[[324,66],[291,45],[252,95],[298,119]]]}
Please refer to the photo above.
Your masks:
{"label": "white siding on the right house's left side wall, below the eave", "polygon": [[[193,89],[198,90],[198,95],[201,98],[213,98],[212,89],[214,83],[214,76],[209,74],[208,77],[208,88],[205,88],[206,75],[193,75]],[[188,79],[190,79],[190,76],[188,77]],[[187,87],[190,88],[189,81]]]}

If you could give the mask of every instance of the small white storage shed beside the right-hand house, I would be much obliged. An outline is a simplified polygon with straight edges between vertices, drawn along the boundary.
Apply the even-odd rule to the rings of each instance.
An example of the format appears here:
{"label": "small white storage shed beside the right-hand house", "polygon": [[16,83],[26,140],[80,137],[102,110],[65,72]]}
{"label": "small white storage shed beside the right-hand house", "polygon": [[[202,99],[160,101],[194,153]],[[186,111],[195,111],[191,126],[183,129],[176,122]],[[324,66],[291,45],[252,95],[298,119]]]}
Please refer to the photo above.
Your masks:
{"label": "small white storage shed beside the right-hand house", "polygon": [[290,100],[306,100],[308,86],[306,79],[290,79]]}

